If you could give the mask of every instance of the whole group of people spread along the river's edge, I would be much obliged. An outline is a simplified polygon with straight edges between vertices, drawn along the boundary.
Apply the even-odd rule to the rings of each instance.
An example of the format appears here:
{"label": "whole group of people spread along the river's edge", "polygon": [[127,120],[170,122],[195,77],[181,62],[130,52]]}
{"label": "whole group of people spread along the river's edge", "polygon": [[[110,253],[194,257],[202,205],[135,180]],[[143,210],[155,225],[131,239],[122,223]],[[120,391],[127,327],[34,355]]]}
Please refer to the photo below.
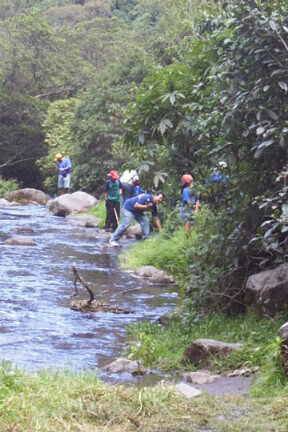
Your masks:
{"label": "whole group of people spread along the river's edge", "polygon": [[[64,157],[61,153],[57,153],[55,162],[58,171],[58,193],[67,193],[71,184],[71,160],[68,156]],[[224,174],[226,168],[226,162],[218,162],[217,167],[207,179],[207,184],[226,186],[228,183],[228,177]],[[133,221],[140,224],[142,238],[147,238],[150,234],[150,219],[147,212],[152,213],[153,226],[160,231],[161,222],[157,206],[164,199],[163,192],[152,194],[145,191],[136,172],[128,182],[125,182],[121,181],[116,170],[111,170],[105,183],[105,229],[112,232],[110,246],[119,245],[118,240]],[[181,177],[180,218],[186,232],[190,231],[194,215],[199,209],[200,194],[194,189],[193,177],[191,174],[184,174]]]}

